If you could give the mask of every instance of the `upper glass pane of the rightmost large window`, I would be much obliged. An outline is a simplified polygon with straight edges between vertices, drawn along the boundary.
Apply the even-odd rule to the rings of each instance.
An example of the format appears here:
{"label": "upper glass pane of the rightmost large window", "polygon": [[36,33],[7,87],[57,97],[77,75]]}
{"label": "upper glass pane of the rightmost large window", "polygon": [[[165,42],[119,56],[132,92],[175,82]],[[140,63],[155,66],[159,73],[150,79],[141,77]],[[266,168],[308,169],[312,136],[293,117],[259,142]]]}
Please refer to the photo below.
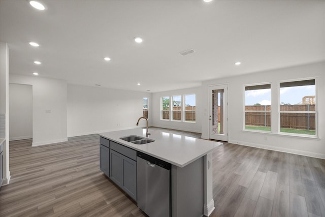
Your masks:
{"label": "upper glass pane of the rightmost large window", "polygon": [[280,83],[280,111],[315,111],[315,80],[307,81]]}

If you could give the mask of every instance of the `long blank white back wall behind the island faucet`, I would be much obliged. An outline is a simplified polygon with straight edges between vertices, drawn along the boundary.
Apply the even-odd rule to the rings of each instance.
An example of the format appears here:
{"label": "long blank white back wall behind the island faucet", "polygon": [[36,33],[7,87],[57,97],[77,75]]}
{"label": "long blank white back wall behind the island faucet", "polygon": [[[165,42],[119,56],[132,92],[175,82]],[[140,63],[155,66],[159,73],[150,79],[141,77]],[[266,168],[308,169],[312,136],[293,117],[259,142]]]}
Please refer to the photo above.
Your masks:
{"label": "long blank white back wall behind the island faucet", "polygon": [[[68,85],[68,137],[136,128],[143,116],[143,98],[151,94],[102,87]],[[140,127],[146,125],[141,120]]]}

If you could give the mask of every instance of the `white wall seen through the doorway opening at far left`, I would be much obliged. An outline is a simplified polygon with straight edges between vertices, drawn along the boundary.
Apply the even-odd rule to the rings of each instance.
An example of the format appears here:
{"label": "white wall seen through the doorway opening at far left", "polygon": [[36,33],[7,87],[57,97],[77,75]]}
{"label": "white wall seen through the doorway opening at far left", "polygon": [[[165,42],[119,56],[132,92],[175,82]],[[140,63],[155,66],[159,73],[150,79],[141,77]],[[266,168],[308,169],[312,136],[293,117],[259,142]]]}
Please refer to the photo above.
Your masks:
{"label": "white wall seen through the doorway opening at far left", "polygon": [[9,140],[32,138],[32,86],[9,84]]}

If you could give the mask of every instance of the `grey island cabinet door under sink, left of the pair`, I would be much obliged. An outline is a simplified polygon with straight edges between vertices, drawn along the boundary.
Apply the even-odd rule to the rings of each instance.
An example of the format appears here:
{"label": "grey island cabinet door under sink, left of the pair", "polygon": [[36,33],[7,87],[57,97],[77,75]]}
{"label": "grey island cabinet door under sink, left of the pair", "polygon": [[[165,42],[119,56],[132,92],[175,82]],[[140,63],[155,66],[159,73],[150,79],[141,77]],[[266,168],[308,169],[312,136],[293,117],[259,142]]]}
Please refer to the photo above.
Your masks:
{"label": "grey island cabinet door under sink, left of the pair", "polygon": [[111,150],[110,160],[110,178],[119,187],[123,188],[123,156],[122,154]]}

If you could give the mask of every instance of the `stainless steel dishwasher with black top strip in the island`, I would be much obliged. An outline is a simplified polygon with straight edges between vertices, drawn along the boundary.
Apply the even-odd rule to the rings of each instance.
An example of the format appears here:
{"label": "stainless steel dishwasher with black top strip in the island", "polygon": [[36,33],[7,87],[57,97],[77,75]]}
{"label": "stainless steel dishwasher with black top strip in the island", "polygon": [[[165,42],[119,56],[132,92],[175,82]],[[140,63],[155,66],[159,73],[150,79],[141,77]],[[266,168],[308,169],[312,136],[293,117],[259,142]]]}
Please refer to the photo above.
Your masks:
{"label": "stainless steel dishwasher with black top strip in the island", "polygon": [[150,217],[171,216],[171,164],[137,152],[138,207]]}

